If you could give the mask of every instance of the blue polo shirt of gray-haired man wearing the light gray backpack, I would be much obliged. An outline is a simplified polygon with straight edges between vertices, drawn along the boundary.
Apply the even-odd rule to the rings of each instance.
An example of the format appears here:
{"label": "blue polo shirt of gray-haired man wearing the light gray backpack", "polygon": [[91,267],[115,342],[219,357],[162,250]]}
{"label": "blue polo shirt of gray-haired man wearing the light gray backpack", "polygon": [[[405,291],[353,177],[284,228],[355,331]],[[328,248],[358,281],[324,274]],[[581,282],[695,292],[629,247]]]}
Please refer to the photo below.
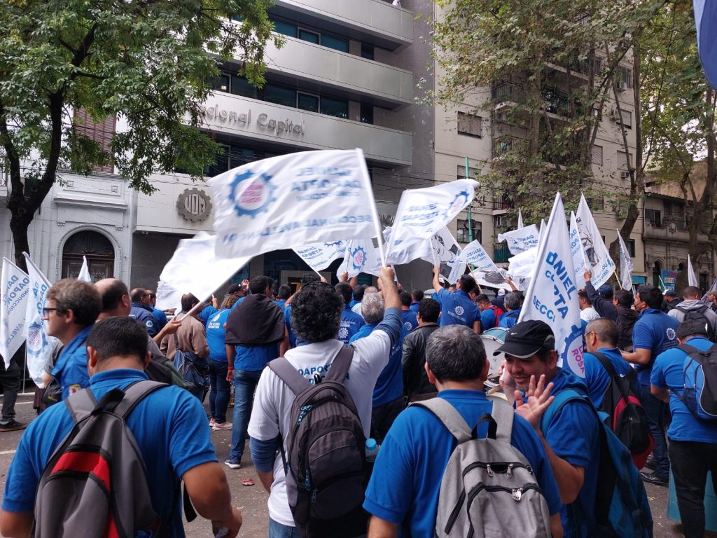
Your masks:
{"label": "blue polo shirt of gray-haired man wearing the light gray backpack", "polygon": [[[449,401],[469,425],[493,410],[493,402],[478,390],[442,390],[438,397]],[[487,434],[488,425],[480,424],[478,438]],[[538,435],[518,415],[513,418],[511,445],[526,456],[550,513],[556,514],[560,494],[550,463]],[[381,444],[364,509],[399,527],[404,525],[411,536],[432,537],[441,479],[456,446],[455,438],[432,412],[422,407],[404,410]],[[510,514],[505,514],[503,524],[510,524]]]}

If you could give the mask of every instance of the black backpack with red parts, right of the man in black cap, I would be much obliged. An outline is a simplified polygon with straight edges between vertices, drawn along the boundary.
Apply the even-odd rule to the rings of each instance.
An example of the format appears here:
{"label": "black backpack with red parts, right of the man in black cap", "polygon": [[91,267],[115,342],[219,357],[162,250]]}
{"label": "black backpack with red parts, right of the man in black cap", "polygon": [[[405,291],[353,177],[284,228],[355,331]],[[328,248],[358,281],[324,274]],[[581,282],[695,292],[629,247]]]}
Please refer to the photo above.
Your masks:
{"label": "black backpack with red parts, right of the man in black cap", "polygon": [[630,368],[630,372],[621,377],[604,354],[599,351],[593,354],[610,376],[599,410],[607,413],[607,425],[630,450],[632,461],[641,469],[655,447],[655,438],[650,433],[647,413],[635,388],[637,372]]}

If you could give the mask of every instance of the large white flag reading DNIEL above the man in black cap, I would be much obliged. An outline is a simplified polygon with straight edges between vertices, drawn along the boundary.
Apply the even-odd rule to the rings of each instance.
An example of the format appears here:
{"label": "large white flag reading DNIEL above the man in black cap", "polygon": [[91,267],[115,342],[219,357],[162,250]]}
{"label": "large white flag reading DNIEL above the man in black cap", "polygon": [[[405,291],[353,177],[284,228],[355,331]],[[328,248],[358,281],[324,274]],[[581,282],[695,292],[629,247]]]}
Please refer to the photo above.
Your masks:
{"label": "large white flag reading DNIEL above the man in black cap", "polygon": [[558,365],[585,377],[578,288],[570,252],[570,234],[560,193],[545,235],[538,248],[538,260],[519,321],[544,321],[553,329]]}

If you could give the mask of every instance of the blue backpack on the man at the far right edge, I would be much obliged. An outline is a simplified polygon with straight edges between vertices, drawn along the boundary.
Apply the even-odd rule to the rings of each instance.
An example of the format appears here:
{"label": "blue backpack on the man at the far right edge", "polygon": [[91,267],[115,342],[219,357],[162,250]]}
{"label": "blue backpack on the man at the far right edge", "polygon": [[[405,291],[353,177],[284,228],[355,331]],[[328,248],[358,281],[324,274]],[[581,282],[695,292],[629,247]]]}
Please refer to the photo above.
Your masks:
{"label": "blue backpack on the man at the far right edge", "polygon": [[717,344],[706,351],[682,344],[685,392],[677,396],[697,420],[717,420]]}

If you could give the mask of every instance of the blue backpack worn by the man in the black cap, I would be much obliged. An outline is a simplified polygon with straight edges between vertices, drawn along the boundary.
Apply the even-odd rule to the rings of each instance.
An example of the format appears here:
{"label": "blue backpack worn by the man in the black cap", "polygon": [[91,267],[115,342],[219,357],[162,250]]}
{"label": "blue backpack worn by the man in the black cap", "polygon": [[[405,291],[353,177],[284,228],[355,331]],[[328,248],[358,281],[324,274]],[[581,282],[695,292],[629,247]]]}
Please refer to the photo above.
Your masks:
{"label": "blue backpack worn by the man in the black cap", "polygon": [[607,425],[607,413],[597,411],[587,395],[573,389],[563,390],[541,418],[541,430],[545,431],[543,425],[549,425],[567,402],[575,400],[589,405],[599,423],[600,459],[594,509],[597,527],[592,529],[591,536],[651,538],[652,512],[645,484],[632,463],[630,450]]}

